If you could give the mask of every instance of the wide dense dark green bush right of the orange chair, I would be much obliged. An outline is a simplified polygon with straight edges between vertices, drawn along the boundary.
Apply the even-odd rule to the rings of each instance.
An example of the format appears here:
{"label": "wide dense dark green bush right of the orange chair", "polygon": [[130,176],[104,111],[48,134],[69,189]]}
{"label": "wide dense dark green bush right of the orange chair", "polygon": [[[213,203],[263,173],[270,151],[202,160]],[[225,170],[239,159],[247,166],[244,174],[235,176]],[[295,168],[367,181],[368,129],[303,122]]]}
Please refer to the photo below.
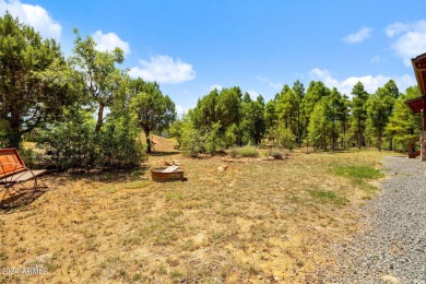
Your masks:
{"label": "wide dense dark green bush right of the orange chair", "polygon": [[109,118],[96,133],[92,117],[79,115],[40,131],[37,146],[59,169],[130,168],[145,158],[135,123],[126,117]]}

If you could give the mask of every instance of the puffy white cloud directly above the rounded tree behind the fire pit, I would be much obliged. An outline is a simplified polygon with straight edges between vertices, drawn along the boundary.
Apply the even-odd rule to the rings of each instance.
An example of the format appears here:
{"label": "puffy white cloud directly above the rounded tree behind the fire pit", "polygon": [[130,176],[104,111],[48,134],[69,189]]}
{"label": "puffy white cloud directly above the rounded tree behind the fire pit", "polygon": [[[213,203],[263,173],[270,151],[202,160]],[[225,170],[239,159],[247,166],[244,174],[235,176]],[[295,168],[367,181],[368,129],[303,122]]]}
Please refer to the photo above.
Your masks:
{"label": "puffy white cloud directly above the rounded tree behind the fire pit", "polygon": [[146,81],[158,83],[181,83],[196,78],[192,66],[178,59],[165,56],[152,56],[150,61],[140,60],[142,66],[130,69],[129,74],[133,78],[143,78]]}

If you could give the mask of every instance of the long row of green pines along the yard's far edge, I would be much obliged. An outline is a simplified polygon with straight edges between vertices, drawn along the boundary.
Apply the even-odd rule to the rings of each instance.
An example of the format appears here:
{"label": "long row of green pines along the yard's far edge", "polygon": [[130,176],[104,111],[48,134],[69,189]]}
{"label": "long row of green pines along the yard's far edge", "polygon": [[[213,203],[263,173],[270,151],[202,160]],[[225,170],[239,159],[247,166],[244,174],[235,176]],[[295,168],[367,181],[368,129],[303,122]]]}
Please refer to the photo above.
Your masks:
{"label": "long row of green pines along the yard's far edge", "polygon": [[322,82],[284,85],[265,103],[239,87],[213,90],[175,121],[170,134],[189,154],[214,153],[233,145],[313,146],[324,151],[352,146],[406,151],[416,142],[422,118],[405,100],[419,96],[417,86],[400,93],[390,80],[375,93],[358,82],[351,98]]}

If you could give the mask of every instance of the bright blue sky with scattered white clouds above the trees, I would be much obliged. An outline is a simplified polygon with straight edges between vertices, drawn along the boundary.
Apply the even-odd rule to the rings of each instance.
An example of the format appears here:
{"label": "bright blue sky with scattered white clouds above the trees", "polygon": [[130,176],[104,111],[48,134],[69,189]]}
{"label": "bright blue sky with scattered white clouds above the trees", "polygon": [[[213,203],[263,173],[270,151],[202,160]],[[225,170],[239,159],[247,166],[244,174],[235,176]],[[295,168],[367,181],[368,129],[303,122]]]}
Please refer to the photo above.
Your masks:
{"label": "bright blue sky with scattered white clouds above the trees", "polygon": [[159,82],[178,111],[213,87],[240,86],[269,100],[283,84],[321,80],[348,94],[389,79],[415,84],[410,59],[426,52],[424,1],[0,0],[71,54],[78,27],[99,49],[125,50],[122,68]]}

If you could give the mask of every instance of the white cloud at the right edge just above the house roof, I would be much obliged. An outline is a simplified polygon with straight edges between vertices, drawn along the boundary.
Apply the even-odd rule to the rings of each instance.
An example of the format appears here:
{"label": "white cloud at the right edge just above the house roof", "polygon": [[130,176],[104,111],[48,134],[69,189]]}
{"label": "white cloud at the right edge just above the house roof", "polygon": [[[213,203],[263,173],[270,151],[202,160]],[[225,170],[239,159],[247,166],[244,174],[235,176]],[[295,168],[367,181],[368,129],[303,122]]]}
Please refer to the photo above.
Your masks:
{"label": "white cloud at the right edge just above the house roof", "polygon": [[391,24],[386,28],[386,34],[395,38],[392,49],[407,67],[411,66],[412,58],[426,50],[426,21],[424,20],[414,24]]}

